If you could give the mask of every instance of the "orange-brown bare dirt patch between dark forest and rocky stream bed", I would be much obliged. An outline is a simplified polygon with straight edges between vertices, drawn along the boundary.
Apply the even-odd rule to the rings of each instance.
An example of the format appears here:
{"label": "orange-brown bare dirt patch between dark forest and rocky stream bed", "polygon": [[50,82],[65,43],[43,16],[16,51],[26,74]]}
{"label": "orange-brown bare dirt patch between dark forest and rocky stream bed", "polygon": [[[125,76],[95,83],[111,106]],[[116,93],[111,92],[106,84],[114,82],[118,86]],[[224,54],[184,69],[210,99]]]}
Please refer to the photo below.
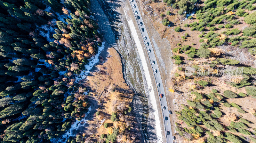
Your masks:
{"label": "orange-brown bare dirt patch between dark forest and rocky stream bed", "polygon": [[[85,131],[86,135],[89,135],[94,139],[100,139],[101,134],[108,134],[108,129],[105,129],[103,126],[104,123],[110,124],[110,127],[108,128],[118,126],[119,128],[130,128],[131,132],[133,132],[133,130],[137,130],[134,126],[134,116],[132,116],[131,113],[127,113],[124,116],[122,113],[123,110],[127,111],[130,103],[132,102],[133,93],[124,81],[120,56],[114,48],[109,48],[108,52],[109,56],[107,61],[103,64],[97,65],[97,71],[91,73],[92,76],[87,76],[86,84],[92,88],[92,97],[97,100],[103,92],[98,100],[98,104],[100,104],[98,111],[100,111],[101,114],[100,116],[96,116],[94,114],[93,119],[88,121],[88,130]],[[118,90],[116,89],[114,92],[111,91],[115,86],[118,87]],[[110,119],[112,112],[118,113],[117,116],[120,120],[118,125],[114,125],[115,123],[113,124]],[[124,134],[123,136],[117,137],[119,141],[137,142],[135,139],[135,133],[131,135],[128,133],[129,131],[124,133],[121,129],[119,129],[119,132],[120,134]],[[100,141],[102,140],[100,139]]]}

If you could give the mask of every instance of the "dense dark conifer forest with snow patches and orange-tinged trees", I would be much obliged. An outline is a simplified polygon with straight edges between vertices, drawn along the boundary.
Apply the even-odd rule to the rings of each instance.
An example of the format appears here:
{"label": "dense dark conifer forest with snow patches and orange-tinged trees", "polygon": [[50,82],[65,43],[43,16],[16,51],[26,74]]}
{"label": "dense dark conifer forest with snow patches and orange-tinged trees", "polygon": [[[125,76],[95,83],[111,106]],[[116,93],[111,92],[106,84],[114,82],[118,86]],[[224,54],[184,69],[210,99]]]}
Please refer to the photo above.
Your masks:
{"label": "dense dark conifer forest with snow patches and orange-tinged trees", "polygon": [[75,75],[102,42],[89,6],[0,0],[1,143],[47,143],[85,116],[90,105]]}

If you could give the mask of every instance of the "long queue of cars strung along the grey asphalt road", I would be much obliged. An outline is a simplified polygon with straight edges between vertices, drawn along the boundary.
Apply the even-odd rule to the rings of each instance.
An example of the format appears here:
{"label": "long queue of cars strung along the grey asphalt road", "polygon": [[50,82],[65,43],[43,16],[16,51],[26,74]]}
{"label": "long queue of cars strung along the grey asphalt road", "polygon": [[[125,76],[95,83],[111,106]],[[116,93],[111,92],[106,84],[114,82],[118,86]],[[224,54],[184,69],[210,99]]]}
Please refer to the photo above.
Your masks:
{"label": "long queue of cars strung along the grey asphalt road", "polygon": [[[130,1],[133,2],[133,0],[130,0]],[[132,7],[135,8],[135,7],[136,7],[135,4],[132,4]],[[134,13],[135,13],[135,14],[138,14],[138,11],[135,10]],[[140,19],[140,16],[138,16],[138,15],[135,16],[135,17],[136,17],[138,20]],[[140,21],[140,22],[139,22],[139,25],[142,26],[143,23]],[[144,31],[145,31],[144,28],[141,27],[141,31],[144,32]],[[146,37],[146,36],[143,36],[143,39],[146,40],[147,37]],[[146,42],[146,45],[149,46],[149,43]],[[151,49],[150,49],[150,48],[148,48],[148,53],[151,53]],[[151,62],[152,62],[153,65],[155,64],[155,61],[151,61]],[[157,73],[157,70],[154,69],[154,72]],[[160,87],[160,83],[157,83],[157,86]],[[164,95],[163,95],[163,94],[160,94],[160,97],[163,98]],[[165,106],[162,106],[162,109],[165,110],[165,109],[166,109]],[[171,111],[171,110],[169,110],[169,114],[170,114],[170,115],[172,114],[172,111]],[[168,117],[165,116],[165,117],[164,117],[164,120],[167,121],[167,120],[168,120]],[[166,131],[166,134],[167,134],[167,135],[170,135],[170,131]],[[175,140],[175,136],[172,136],[172,140]],[[173,143],[175,143],[175,142],[173,142]]]}

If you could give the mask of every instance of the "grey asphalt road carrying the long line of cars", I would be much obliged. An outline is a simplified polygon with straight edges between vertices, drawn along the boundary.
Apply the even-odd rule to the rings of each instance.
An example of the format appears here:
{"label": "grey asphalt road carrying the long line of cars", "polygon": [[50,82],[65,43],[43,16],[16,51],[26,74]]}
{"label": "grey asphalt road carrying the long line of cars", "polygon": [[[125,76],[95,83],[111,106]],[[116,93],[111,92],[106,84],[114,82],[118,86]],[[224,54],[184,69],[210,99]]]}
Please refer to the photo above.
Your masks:
{"label": "grey asphalt road carrying the long line of cars", "polygon": [[[166,141],[167,141],[167,143],[172,143],[173,142],[173,140],[172,140],[172,128],[171,128],[171,122],[170,122],[170,116],[169,116],[169,110],[171,110],[171,109],[169,109],[168,105],[167,105],[166,95],[164,93],[164,86],[163,86],[161,75],[159,73],[159,68],[158,68],[158,64],[157,64],[157,61],[156,61],[156,56],[155,56],[153,47],[151,45],[150,39],[148,37],[147,27],[144,25],[144,22],[142,20],[139,7],[138,7],[136,1],[131,1],[131,0],[129,0],[129,1],[130,1],[131,6],[132,6],[132,10],[133,10],[135,18],[137,20],[138,26],[140,28],[141,35],[143,36],[143,38],[144,38],[144,36],[146,37],[146,39],[144,38],[144,44],[147,47],[147,49],[150,49],[150,51],[151,51],[151,52],[147,52],[147,53],[148,53],[150,63],[151,63],[151,66],[152,66],[152,70],[153,70],[153,73],[154,73],[154,76],[155,76],[155,79],[156,79],[156,84],[157,83],[160,84],[160,86],[157,87],[157,89],[158,89],[159,99],[160,99],[160,103],[161,103],[163,119],[164,119],[164,117],[168,118],[167,120],[164,120],[165,135],[166,135],[166,139],[167,139]],[[133,5],[135,6],[135,8],[133,7]],[[137,11],[137,14],[135,13],[135,11]],[[137,16],[139,16],[140,18],[137,18]],[[140,25],[140,22],[142,23],[142,25]],[[141,28],[144,29],[144,32],[142,31]],[[149,44],[148,46],[146,45],[147,42]],[[153,64],[152,61],[154,61],[155,63]],[[154,72],[155,70],[156,70],[156,72]],[[163,94],[163,98],[160,98],[160,94]],[[166,109],[163,110],[162,106],[165,106]],[[167,135],[167,131],[170,132],[169,135]]]}

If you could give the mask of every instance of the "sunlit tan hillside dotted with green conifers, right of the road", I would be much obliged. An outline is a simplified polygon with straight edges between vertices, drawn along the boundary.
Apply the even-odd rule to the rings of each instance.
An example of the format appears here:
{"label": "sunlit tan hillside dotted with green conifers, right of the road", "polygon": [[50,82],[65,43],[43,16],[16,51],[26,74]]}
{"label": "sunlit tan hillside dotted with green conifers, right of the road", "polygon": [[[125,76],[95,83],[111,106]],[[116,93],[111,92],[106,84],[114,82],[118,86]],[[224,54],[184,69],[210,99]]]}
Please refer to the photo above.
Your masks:
{"label": "sunlit tan hillside dotted with green conifers, right of the road", "polygon": [[[256,1],[163,3],[153,10],[168,12],[164,18],[172,22],[155,28],[171,45],[175,43],[172,89],[179,99],[173,99],[174,135],[181,137],[176,142],[256,142],[256,109],[245,102],[254,102],[256,96]],[[246,57],[232,55],[233,51]],[[191,75],[187,67],[194,70]]]}

